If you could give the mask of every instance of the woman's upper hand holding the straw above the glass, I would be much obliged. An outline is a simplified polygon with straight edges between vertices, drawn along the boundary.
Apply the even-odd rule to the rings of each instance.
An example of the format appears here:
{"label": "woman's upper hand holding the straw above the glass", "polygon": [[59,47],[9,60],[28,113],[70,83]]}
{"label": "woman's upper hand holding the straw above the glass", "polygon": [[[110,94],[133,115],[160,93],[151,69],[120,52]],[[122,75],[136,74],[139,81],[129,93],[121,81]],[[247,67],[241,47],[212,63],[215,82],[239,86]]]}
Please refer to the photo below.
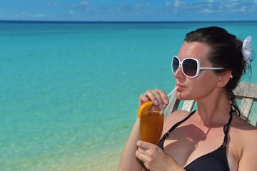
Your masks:
{"label": "woman's upper hand holding the straw above the glass", "polygon": [[152,101],[154,105],[158,105],[162,110],[164,104],[168,105],[168,96],[163,90],[147,90],[146,93],[140,95],[139,105],[142,105],[147,101]]}

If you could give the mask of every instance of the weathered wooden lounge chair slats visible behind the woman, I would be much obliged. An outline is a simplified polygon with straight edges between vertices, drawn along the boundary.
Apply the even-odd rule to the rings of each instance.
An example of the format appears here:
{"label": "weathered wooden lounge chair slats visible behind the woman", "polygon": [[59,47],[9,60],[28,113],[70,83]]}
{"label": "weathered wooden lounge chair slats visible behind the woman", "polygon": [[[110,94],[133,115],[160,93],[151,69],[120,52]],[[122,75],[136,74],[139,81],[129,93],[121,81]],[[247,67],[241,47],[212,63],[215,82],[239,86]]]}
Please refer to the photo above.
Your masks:
{"label": "weathered wooden lounge chair slats visible behind the woman", "polygon": [[[236,99],[241,102],[240,110],[246,118],[249,117],[253,102],[257,101],[257,83],[239,83],[236,89],[234,90]],[[178,110],[178,107],[182,101],[178,100],[173,94],[171,96],[170,103],[166,108],[166,116],[170,115],[173,111]],[[182,110],[187,110],[191,112],[195,100],[184,100],[182,105]],[[253,123],[252,123],[253,124]],[[255,124],[257,126],[257,122]]]}

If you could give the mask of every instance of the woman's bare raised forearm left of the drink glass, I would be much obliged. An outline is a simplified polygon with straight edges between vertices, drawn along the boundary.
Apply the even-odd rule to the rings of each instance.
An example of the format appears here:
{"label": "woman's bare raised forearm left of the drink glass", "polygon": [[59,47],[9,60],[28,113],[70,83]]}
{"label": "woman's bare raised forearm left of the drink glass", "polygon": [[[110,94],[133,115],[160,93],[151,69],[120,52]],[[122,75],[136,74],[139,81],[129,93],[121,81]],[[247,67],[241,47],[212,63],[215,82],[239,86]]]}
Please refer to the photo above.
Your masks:
{"label": "woman's bare raised forearm left of the drink glass", "polygon": [[139,140],[139,122],[140,120],[137,118],[136,123],[133,125],[131,135],[126,142],[119,162],[119,171],[136,171],[142,170],[143,168],[143,162],[136,157],[136,150],[138,148],[136,142]]}

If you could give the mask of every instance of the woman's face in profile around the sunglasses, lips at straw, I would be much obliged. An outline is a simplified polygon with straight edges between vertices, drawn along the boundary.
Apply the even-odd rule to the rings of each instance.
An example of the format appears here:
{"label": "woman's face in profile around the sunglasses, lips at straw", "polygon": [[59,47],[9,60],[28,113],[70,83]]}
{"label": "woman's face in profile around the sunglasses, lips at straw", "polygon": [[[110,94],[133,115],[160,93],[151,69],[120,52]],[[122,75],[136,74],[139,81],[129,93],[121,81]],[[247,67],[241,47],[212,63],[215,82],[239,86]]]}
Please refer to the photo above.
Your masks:
{"label": "woman's face in profile around the sunglasses, lips at straw", "polygon": [[[207,61],[207,56],[210,48],[205,43],[184,42],[178,53],[178,58],[183,61],[184,58],[196,58],[200,61],[200,66],[212,67]],[[218,76],[213,70],[201,70],[196,78],[187,78],[181,66],[178,67],[176,73],[176,86],[178,86],[176,98],[181,100],[198,100],[204,96],[211,94],[216,88]]]}

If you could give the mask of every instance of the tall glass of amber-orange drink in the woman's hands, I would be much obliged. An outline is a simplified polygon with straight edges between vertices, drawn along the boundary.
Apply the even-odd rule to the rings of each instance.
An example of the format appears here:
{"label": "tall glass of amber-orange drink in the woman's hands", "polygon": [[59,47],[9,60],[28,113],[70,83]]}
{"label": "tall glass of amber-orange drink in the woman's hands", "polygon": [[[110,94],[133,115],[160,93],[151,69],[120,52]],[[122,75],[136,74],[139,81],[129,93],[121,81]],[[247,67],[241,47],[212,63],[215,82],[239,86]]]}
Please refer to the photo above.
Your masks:
{"label": "tall glass of amber-orange drink in the woman's hands", "polygon": [[161,138],[163,130],[164,114],[157,106],[151,106],[140,118],[140,140],[151,142],[155,145]]}

